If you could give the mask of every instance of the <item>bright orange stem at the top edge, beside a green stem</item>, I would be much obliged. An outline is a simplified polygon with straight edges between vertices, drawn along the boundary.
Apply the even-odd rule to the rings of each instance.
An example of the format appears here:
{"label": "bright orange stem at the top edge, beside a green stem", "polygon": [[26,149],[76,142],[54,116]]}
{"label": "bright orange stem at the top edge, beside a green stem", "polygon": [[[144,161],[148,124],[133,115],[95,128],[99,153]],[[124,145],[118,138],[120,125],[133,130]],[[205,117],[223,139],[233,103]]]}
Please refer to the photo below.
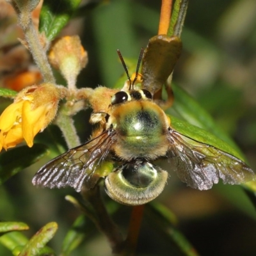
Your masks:
{"label": "bright orange stem at the top edge, beside a green stem", "polygon": [[162,0],[158,35],[166,35],[172,13],[172,0]]}

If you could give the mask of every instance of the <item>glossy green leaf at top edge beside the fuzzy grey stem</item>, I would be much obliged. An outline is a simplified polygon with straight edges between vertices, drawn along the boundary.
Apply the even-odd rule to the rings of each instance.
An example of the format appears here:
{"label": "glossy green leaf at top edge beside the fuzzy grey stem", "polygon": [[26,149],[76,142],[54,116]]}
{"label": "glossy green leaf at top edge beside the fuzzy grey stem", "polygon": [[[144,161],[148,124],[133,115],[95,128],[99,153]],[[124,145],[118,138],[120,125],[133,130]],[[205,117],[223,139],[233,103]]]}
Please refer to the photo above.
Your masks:
{"label": "glossy green leaf at top edge beside the fuzzy grey stem", "polygon": [[81,0],[45,0],[40,13],[39,31],[52,41],[77,10]]}

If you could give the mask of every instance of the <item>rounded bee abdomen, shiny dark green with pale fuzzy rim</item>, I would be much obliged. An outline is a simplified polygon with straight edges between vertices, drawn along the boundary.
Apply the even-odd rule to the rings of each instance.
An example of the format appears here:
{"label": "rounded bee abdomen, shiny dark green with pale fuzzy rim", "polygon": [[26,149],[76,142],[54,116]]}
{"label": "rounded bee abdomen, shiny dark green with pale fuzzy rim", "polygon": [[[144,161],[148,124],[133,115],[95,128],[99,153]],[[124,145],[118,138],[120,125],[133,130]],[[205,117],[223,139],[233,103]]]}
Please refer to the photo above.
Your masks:
{"label": "rounded bee abdomen, shiny dark green with pale fuzzy rim", "polygon": [[166,171],[146,161],[125,163],[106,177],[105,190],[120,204],[141,205],[160,195],[167,178]]}

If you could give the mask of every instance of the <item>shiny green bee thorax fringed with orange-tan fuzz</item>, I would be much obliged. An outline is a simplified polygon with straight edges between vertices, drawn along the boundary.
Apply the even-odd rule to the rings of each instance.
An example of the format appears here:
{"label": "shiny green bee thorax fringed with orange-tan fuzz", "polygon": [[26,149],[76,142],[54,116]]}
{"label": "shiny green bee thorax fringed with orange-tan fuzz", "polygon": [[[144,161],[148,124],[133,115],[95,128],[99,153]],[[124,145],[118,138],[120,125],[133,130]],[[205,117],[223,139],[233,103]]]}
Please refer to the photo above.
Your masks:
{"label": "shiny green bee thorax fringed with orange-tan fuzz", "polygon": [[168,150],[168,120],[154,102],[127,102],[114,109],[111,116],[117,135],[113,150],[118,157],[130,160],[164,156]]}

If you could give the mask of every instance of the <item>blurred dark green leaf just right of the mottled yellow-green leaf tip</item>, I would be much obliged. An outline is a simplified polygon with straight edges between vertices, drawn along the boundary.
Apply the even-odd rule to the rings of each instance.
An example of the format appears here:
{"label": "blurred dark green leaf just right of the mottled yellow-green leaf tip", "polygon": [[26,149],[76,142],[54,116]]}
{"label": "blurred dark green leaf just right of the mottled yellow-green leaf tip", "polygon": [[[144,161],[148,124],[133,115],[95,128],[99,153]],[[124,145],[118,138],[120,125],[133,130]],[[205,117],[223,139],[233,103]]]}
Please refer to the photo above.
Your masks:
{"label": "blurred dark green leaf just right of the mottled yellow-green leaf tip", "polygon": [[74,224],[72,225],[72,228],[68,230],[67,235],[65,236],[65,239],[62,244],[62,255],[70,255],[70,253],[79,246],[79,244],[82,243],[84,238],[86,237],[86,234],[84,231],[86,228],[84,227],[86,225],[86,217],[84,215],[79,216]]}

